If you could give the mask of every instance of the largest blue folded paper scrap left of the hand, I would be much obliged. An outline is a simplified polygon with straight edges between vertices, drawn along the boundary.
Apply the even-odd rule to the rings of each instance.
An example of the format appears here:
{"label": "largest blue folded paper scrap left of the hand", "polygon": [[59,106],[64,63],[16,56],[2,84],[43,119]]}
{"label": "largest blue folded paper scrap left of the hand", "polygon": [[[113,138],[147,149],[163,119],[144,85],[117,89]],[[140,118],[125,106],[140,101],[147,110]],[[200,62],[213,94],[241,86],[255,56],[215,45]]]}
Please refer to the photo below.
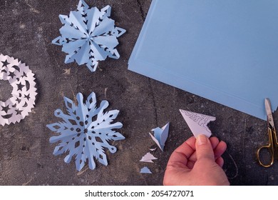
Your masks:
{"label": "largest blue folded paper scrap left of the hand", "polygon": [[163,151],[165,146],[165,141],[168,138],[169,124],[170,122],[168,122],[168,124],[163,126],[163,128],[157,127],[155,129],[152,129],[152,131],[154,132],[154,136],[149,133],[153,141],[155,141],[155,143],[158,144],[158,147],[161,149],[161,151]]}

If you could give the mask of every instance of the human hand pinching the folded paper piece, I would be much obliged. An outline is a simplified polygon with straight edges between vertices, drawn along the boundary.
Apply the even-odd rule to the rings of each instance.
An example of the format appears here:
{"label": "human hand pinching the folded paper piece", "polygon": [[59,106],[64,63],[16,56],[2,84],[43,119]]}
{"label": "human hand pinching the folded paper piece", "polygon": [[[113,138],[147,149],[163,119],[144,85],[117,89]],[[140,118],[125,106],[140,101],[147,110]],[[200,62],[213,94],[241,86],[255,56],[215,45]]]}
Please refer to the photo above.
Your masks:
{"label": "human hand pinching the folded paper piece", "polygon": [[205,135],[192,136],[177,147],[168,161],[164,185],[230,185],[222,169],[225,141]]}

